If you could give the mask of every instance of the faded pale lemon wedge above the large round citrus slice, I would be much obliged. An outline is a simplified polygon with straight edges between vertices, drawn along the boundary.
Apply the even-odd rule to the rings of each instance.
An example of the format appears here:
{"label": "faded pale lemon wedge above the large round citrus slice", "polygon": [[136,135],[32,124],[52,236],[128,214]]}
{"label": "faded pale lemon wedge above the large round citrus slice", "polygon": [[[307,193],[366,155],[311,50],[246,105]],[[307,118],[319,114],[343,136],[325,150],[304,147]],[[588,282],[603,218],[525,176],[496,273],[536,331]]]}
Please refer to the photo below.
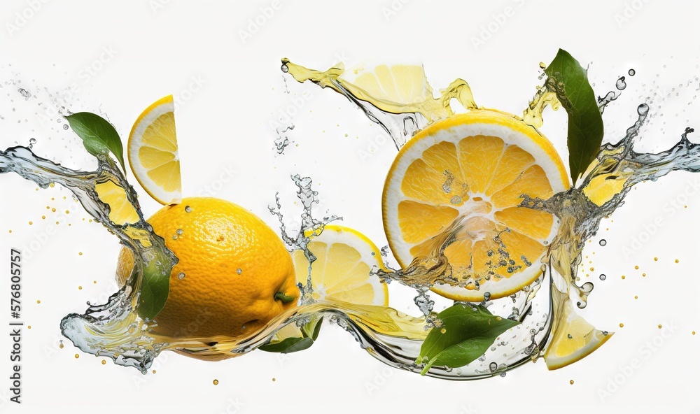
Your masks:
{"label": "faded pale lemon wedge above the large round citrus slice", "polygon": [[357,89],[352,92],[359,92],[358,97],[388,105],[421,103],[433,98],[422,65],[363,64],[344,71],[339,80]]}

